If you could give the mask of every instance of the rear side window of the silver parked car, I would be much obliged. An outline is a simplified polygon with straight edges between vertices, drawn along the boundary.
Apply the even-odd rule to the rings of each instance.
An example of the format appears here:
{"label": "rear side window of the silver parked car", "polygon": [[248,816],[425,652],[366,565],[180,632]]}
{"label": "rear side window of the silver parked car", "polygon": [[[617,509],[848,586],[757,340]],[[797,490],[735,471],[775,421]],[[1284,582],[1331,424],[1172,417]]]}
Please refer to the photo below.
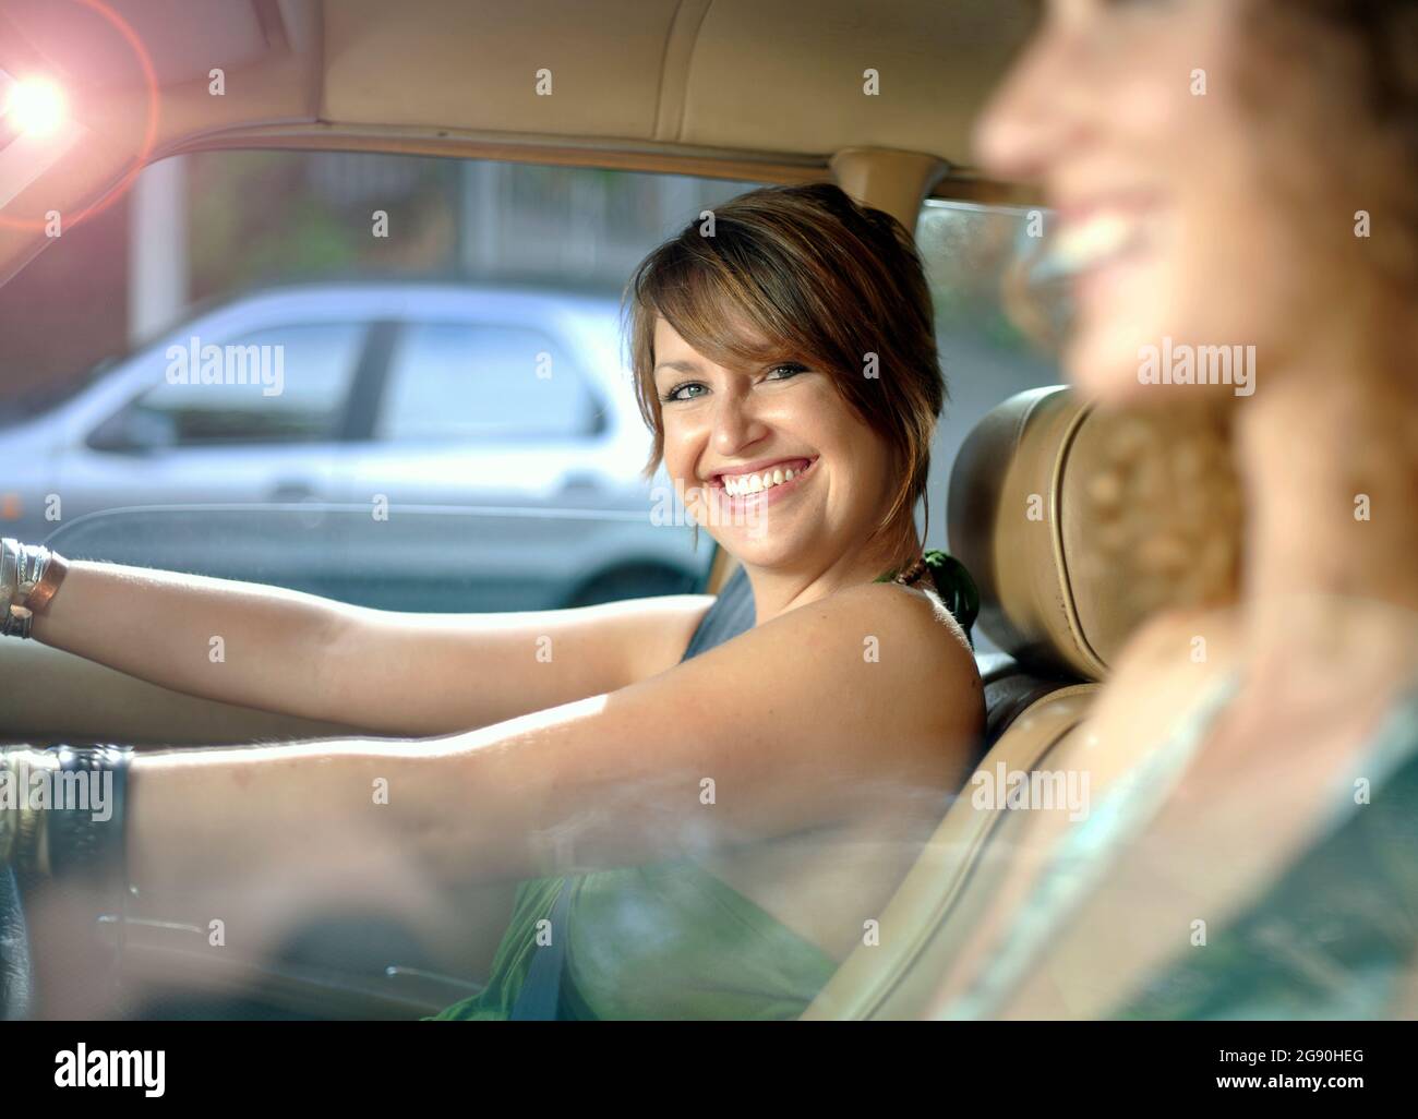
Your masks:
{"label": "rear side window of the silver parked car", "polygon": [[596,434],[600,401],[540,330],[411,323],[390,357],[383,440],[571,438]]}

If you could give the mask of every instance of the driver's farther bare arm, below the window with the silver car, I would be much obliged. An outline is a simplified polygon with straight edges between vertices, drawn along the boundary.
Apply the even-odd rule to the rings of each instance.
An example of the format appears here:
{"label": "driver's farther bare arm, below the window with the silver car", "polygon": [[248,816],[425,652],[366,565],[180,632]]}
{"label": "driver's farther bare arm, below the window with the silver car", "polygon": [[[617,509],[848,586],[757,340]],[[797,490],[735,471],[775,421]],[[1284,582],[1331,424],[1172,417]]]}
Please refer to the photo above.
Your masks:
{"label": "driver's farther bare arm, below the window with the silver car", "polygon": [[430,736],[662,671],[710,603],[683,594],[518,614],[396,614],[278,587],[74,563],[34,637],[189,695]]}

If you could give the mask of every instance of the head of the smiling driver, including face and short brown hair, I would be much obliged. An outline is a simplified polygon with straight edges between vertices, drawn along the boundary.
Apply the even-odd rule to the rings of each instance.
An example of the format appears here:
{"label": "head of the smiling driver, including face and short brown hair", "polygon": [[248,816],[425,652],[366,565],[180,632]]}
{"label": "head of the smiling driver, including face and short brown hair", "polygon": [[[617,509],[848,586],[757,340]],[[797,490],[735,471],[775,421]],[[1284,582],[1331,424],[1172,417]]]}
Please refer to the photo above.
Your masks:
{"label": "head of the smiling driver, including face and short brown hair", "polygon": [[776,573],[915,559],[946,384],[899,223],[825,183],[754,190],[647,257],[628,305],[647,474],[664,458],[700,520],[744,528],[729,552]]}

